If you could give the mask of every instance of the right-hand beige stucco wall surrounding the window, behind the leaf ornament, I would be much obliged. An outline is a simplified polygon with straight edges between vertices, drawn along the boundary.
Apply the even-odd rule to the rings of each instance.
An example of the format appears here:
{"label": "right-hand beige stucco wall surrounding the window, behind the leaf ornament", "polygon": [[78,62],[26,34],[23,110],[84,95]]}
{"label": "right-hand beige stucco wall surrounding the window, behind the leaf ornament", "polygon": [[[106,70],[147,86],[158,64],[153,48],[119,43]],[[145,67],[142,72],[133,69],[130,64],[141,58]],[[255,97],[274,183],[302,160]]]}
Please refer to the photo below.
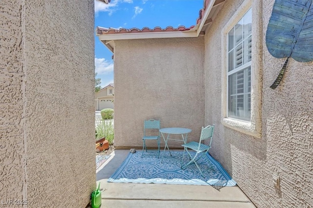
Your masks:
{"label": "right-hand beige stucco wall surrounding the window, behind the leaf ornament", "polygon": [[[262,1],[261,139],[221,124],[221,70],[225,70],[220,56],[221,31],[242,2],[226,0],[223,12],[214,19],[205,35],[205,124],[216,124],[210,152],[257,207],[311,207],[313,62],[299,63],[292,59],[281,85],[275,90],[269,88],[285,61],[272,57],[265,44],[274,0]],[[256,15],[252,16],[255,21]],[[273,186],[272,174],[281,178],[279,190]]]}

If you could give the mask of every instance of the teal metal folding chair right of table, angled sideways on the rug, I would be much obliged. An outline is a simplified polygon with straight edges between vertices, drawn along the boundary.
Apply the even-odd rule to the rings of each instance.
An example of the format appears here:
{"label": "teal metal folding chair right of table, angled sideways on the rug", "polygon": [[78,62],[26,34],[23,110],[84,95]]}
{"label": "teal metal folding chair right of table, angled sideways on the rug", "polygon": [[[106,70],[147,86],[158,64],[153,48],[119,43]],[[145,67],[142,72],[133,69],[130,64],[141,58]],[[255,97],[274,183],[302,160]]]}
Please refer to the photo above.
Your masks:
{"label": "teal metal folding chair right of table, angled sideways on the rug", "polygon": [[[197,164],[197,161],[199,159],[201,159],[201,157],[205,158],[207,160],[207,156],[205,154],[211,148],[213,132],[214,132],[214,124],[212,126],[209,125],[209,126],[207,126],[205,128],[202,127],[199,142],[192,141],[192,142],[189,142],[187,144],[181,145],[181,146],[184,147],[184,152],[183,152],[182,158],[181,158],[181,169],[182,170],[186,169],[186,167],[191,165],[192,163],[195,163],[197,168],[200,170],[202,177],[205,178],[203,173],[202,173],[202,171],[201,171],[201,169],[200,169],[200,167],[199,167],[199,165]],[[202,144],[201,142],[204,141],[204,140],[210,140],[209,141],[209,145]],[[196,151],[195,156],[191,156],[191,154],[189,152],[190,150],[188,151],[188,149]],[[187,164],[182,165],[183,160],[184,160],[184,156],[185,156],[185,151],[188,153],[189,158],[192,158],[192,159]],[[198,155],[201,156],[201,157],[197,158]]]}

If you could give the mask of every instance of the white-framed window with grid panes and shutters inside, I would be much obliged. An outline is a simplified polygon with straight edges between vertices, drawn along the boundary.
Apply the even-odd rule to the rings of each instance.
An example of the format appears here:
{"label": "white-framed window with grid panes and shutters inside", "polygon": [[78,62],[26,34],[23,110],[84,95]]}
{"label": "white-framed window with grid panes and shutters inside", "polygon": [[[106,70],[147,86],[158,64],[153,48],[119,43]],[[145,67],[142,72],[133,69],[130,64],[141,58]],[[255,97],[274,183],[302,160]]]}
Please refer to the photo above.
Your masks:
{"label": "white-framed window with grid panes and shutters inside", "polygon": [[251,8],[227,33],[227,117],[251,119]]}

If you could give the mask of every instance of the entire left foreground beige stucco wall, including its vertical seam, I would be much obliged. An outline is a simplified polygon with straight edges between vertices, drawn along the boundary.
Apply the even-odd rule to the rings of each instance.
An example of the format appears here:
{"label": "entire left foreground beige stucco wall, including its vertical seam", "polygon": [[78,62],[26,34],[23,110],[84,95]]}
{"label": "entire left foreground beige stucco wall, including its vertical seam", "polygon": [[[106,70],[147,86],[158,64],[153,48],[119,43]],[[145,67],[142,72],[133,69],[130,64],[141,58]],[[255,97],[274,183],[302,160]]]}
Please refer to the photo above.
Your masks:
{"label": "entire left foreground beige stucco wall, including its vertical seam", "polygon": [[25,207],[89,203],[95,188],[93,3],[1,4],[2,200],[27,199]]}

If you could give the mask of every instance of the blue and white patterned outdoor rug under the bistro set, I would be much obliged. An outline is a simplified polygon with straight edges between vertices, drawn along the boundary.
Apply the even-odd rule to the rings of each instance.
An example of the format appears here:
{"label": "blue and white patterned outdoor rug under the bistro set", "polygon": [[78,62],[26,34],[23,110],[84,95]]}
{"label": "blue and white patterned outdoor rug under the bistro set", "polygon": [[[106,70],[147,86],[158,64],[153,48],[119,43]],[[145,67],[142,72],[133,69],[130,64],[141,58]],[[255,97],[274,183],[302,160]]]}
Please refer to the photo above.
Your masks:
{"label": "blue and white patterned outdoor rug under the bistro set", "polygon": [[[213,187],[217,184],[218,187],[236,185],[221,164],[210,154],[207,154],[208,160],[201,158],[197,162],[205,176],[203,178],[195,164],[189,165],[185,170],[180,169],[182,151],[171,151],[172,156],[165,151],[163,163],[161,163],[162,151],[160,158],[157,158],[155,152],[145,152],[141,158],[141,152],[129,153],[108,182],[211,185]],[[193,155],[195,152],[190,153]],[[184,163],[188,161],[189,157],[185,152]]]}

